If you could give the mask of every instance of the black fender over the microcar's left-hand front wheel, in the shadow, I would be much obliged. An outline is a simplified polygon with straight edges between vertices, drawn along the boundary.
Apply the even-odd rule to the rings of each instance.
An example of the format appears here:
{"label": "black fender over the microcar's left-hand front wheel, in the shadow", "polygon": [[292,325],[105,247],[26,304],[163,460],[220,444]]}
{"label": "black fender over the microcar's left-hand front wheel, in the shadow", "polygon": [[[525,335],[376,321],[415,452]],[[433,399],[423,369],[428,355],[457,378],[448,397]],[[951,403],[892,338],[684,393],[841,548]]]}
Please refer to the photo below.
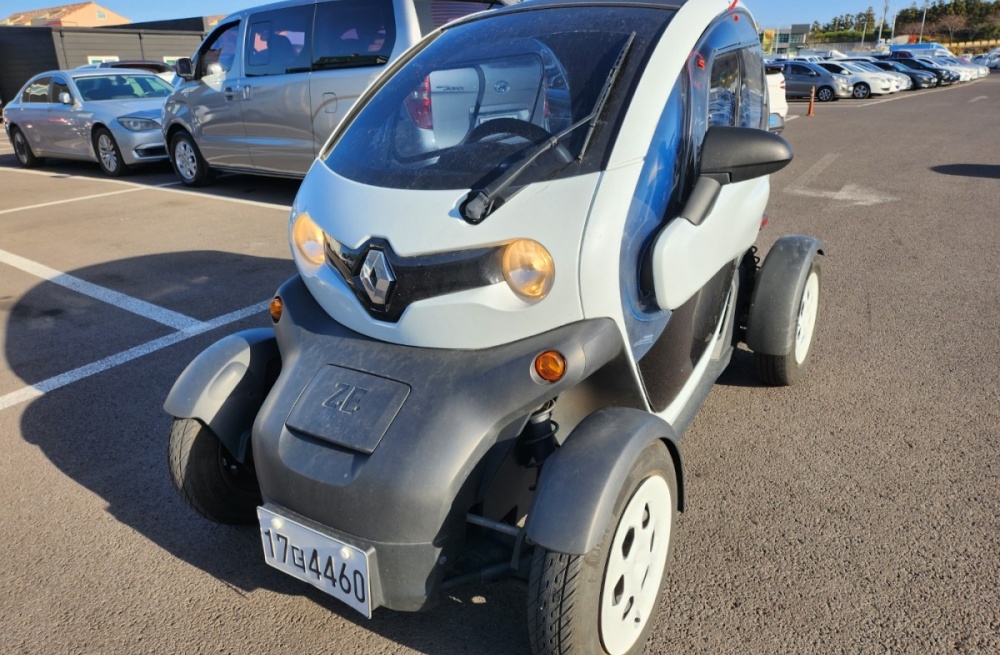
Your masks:
{"label": "black fender over the microcar's left-hand front wheel, in the shadow", "polygon": [[246,463],[254,419],[280,367],[273,329],[231,334],[188,364],[163,409],[176,418],[201,421],[236,459]]}

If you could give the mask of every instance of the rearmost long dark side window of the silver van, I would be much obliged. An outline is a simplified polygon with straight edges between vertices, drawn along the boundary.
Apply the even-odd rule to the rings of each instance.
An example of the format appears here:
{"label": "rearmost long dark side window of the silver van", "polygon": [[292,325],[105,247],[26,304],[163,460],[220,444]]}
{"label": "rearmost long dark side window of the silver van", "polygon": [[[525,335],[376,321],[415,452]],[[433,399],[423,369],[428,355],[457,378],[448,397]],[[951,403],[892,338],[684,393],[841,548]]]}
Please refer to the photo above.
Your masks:
{"label": "rearmost long dark side window of the silver van", "polygon": [[341,0],[316,5],[313,67],[380,65],[396,44],[392,0]]}

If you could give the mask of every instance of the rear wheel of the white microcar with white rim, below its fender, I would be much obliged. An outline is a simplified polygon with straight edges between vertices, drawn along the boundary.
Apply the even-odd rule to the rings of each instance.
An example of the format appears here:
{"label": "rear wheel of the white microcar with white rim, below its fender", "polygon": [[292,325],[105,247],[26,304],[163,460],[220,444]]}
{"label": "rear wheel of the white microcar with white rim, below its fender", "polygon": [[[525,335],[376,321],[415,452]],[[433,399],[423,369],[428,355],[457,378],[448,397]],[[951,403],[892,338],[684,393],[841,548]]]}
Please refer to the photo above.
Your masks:
{"label": "rear wheel of the white microcar with white rim, below its fender", "polygon": [[799,311],[794,317],[795,325],[788,326],[787,333],[790,343],[786,344],[784,355],[765,355],[754,353],[757,366],[757,377],[764,384],[781,387],[795,384],[805,375],[809,365],[809,355],[812,354],[812,342],[816,334],[816,321],[819,317],[820,265],[818,259],[813,259],[812,266],[806,276],[802,289],[791,289],[796,293],[795,303]]}

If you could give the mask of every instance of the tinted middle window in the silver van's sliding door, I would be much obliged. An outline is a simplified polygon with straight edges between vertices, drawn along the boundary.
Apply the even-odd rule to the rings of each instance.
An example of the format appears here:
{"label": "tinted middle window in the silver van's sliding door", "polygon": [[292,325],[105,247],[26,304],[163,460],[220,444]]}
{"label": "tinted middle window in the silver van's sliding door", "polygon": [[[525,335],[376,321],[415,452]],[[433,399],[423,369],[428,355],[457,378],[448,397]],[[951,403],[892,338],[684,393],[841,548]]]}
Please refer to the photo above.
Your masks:
{"label": "tinted middle window in the silver van's sliding door", "polygon": [[250,16],[246,74],[284,75],[309,70],[313,5],[300,5]]}

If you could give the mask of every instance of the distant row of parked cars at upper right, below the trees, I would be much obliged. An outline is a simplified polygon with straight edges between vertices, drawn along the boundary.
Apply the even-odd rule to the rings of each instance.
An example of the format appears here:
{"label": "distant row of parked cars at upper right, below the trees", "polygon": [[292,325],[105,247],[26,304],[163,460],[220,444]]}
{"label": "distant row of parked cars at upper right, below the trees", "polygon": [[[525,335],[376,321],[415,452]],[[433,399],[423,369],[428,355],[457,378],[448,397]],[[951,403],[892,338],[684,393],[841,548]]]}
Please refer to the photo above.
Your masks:
{"label": "distant row of parked cars at upper right, below the trees", "polygon": [[989,75],[982,64],[938,53],[897,51],[888,55],[839,58],[798,57],[769,60],[769,73],[782,75],[789,98],[828,102],[840,98],[864,100],[898,91],[929,89]]}

